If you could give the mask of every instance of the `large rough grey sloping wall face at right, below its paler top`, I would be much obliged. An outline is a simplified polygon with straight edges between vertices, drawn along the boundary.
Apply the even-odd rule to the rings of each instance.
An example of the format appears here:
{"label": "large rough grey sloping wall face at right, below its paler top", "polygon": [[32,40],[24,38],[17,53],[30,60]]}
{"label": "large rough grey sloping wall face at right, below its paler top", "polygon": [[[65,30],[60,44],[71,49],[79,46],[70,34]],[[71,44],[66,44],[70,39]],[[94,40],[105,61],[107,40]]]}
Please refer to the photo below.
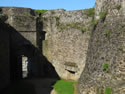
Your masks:
{"label": "large rough grey sloping wall face at right, below its paler top", "polygon": [[79,94],[104,94],[107,88],[111,94],[125,94],[124,25],[124,17],[113,16],[93,31]]}

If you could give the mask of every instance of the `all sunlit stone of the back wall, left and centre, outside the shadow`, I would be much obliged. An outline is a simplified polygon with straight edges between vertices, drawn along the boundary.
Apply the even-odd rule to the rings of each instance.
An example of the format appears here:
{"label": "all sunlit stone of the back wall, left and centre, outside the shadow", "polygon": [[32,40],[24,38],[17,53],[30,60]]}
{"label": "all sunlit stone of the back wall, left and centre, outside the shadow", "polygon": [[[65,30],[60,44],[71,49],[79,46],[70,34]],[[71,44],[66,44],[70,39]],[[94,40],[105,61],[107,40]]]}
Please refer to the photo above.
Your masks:
{"label": "all sunlit stone of the back wall, left and centre, outside the shadow", "polygon": [[[57,9],[37,17],[29,8],[1,8],[8,16],[6,23],[33,45],[41,47],[61,78],[78,80],[85,66],[93,20],[87,10]],[[40,44],[42,40],[43,44]]]}

